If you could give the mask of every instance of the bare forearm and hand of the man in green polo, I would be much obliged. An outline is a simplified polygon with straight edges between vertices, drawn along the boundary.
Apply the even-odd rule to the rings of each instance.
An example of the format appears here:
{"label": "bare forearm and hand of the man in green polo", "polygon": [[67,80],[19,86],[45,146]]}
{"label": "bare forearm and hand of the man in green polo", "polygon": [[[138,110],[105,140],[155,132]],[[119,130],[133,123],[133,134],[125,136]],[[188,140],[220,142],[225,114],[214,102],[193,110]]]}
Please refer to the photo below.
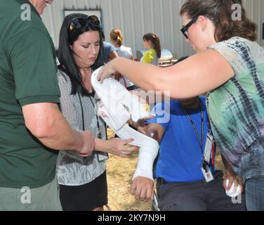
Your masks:
{"label": "bare forearm and hand of the man in green polo", "polygon": [[79,155],[93,153],[95,138],[91,131],[74,131],[55,103],[36,103],[22,107],[27,129],[44,146],[55,150],[77,150]]}

